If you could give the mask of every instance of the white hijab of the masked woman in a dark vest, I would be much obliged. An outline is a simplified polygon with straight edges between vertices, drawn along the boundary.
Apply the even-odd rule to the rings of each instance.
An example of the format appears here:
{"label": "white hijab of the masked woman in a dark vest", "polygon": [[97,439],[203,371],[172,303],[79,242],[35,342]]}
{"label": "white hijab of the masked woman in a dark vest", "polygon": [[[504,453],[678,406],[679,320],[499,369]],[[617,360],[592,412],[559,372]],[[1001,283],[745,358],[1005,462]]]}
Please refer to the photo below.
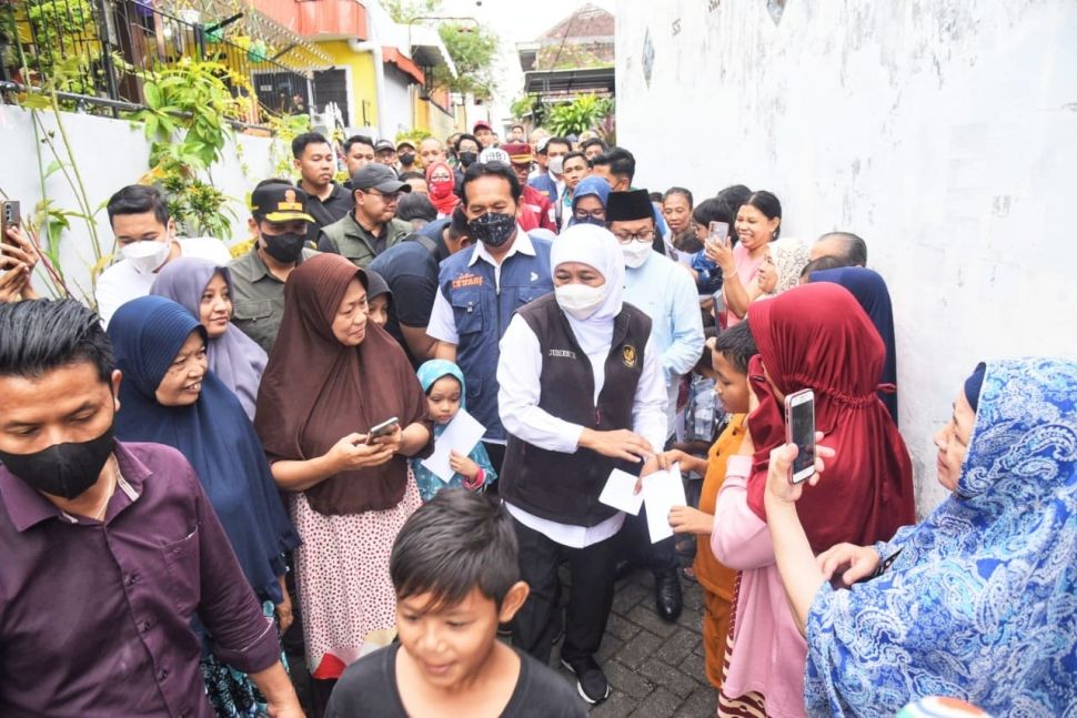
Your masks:
{"label": "white hijab of the masked woman in a dark vest", "polygon": [[594,224],[576,224],[557,235],[550,252],[550,271],[557,265],[580,262],[594,267],[605,277],[605,300],[594,314],[577,320],[563,312],[580,347],[587,354],[608,351],[613,341],[613,323],[621,314],[624,295],[624,252],[610,230]]}

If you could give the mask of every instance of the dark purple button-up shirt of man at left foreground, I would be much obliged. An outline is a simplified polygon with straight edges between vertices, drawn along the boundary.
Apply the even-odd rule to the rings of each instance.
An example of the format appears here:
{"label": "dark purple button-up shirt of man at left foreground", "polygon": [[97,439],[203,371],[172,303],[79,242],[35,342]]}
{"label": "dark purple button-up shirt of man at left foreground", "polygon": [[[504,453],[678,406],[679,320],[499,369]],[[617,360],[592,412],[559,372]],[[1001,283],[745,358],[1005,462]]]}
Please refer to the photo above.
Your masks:
{"label": "dark purple button-up shirt of man at left foreground", "polygon": [[182,454],[115,445],[104,522],[59,510],[0,466],[0,715],[213,717],[190,628],[246,673],[273,625]]}

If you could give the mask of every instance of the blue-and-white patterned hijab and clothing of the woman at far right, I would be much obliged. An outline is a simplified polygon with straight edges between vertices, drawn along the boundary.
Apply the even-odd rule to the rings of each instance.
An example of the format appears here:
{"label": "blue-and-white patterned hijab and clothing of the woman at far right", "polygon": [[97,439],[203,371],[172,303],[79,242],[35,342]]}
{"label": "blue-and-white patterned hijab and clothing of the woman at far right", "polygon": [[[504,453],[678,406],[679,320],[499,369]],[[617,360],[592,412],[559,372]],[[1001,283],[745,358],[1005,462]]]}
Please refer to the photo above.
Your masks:
{"label": "blue-and-white patterned hijab and clothing of the woman at far right", "polygon": [[988,363],[956,491],[876,549],[900,553],[812,604],[808,715],[1077,715],[1077,362]]}

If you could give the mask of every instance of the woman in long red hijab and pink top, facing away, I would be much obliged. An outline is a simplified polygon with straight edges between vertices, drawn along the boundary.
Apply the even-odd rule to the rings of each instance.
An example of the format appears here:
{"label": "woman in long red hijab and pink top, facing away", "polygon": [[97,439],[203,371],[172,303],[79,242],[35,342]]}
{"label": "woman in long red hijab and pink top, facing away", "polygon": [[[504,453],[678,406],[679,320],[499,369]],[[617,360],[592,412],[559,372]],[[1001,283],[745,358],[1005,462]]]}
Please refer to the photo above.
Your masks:
{"label": "woman in long red hijab and pink top, facing away", "polygon": [[747,706],[799,716],[807,645],[789,614],[763,499],[771,451],[786,443],[786,396],[814,392],[816,427],[837,452],[827,481],[798,506],[814,552],[883,540],[912,524],[913,469],[875,393],[883,341],[847,290],[795,287],[754,305],[748,327],[759,350],[748,364],[752,413],[739,455],[727,464],[711,536],[718,560],[741,572],[718,715]]}

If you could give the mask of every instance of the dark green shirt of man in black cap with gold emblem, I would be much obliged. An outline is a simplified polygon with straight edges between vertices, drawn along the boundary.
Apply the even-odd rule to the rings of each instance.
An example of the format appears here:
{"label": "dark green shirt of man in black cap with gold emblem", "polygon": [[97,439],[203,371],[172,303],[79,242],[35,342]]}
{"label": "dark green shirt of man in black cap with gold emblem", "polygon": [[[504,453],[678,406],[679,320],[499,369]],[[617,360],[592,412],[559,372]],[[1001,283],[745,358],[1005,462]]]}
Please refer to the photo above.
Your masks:
{"label": "dark green shirt of man in black cap with gold emblem", "polygon": [[[318,254],[303,250],[299,263]],[[284,282],[273,276],[258,246],[228,264],[231,275],[232,324],[272,354],[284,315]]]}

